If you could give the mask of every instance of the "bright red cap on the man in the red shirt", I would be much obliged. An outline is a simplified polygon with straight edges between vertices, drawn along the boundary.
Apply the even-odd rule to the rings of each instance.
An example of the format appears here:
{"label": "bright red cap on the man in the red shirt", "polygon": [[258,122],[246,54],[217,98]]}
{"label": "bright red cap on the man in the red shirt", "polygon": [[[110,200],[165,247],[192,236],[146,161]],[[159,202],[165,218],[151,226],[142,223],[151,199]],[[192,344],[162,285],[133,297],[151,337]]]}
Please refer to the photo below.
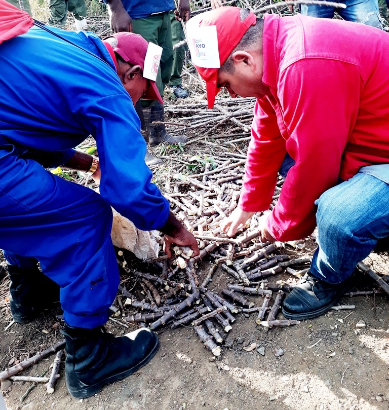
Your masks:
{"label": "bright red cap on the man in the red shirt", "polygon": [[[188,46],[192,56],[192,62],[199,71],[202,79],[205,80],[207,84],[208,108],[213,107],[215,97],[220,91],[220,88],[217,87],[217,70],[225,62],[235,47],[237,47],[250,26],[255,25],[257,22],[257,17],[252,12],[249,12],[249,15],[242,20],[241,10],[245,9],[228,6],[220,7],[216,10],[192,17],[186,23]],[[208,33],[199,40],[199,38],[201,38],[199,28],[207,26],[216,26],[217,50],[219,54],[218,64],[215,63],[214,48],[212,46],[209,49],[209,60],[212,60],[212,62],[207,61],[206,54],[208,45],[204,43],[210,41]],[[193,56],[198,56],[199,58],[193,58]],[[202,63],[202,59],[204,63]]]}

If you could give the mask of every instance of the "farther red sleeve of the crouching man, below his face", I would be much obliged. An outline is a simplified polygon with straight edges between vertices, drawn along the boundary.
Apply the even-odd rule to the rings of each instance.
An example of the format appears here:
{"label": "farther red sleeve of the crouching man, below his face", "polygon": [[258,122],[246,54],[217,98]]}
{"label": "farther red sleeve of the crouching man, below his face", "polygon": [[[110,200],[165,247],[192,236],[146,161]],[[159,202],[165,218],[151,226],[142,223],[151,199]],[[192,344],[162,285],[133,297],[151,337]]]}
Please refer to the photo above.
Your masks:
{"label": "farther red sleeve of the crouching man, below his face", "polygon": [[257,100],[239,201],[244,211],[269,208],[285,154],[285,139],[281,136],[273,106],[266,98]]}

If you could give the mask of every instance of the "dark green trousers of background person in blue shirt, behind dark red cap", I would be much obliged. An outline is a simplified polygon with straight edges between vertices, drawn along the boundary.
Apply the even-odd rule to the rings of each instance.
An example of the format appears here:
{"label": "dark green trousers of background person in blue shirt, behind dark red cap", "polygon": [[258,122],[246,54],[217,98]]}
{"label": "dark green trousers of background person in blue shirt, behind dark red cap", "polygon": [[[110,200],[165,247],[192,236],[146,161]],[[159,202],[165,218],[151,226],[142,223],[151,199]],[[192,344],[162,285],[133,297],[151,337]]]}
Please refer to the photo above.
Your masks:
{"label": "dark green trousers of background person in blue shirt, behind dark red cap", "polygon": [[160,69],[155,83],[161,95],[164,95],[166,84],[169,84],[173,65],[172,26],[170,13],[151,14],[148,17],[132,20],[132,31],[140,34],[150,43],[163,48]]}

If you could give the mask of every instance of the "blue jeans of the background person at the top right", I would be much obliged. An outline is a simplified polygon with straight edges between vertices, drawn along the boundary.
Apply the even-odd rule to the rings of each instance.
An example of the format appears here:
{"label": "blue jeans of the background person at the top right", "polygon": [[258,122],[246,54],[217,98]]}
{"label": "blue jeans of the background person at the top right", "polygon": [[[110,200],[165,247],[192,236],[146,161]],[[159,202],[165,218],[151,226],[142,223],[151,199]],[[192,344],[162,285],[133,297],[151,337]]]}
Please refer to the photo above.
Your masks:
{"label": "blue jeans of the background person at the top right", "polygon": [[[336,9],[336,12],[347,21],[356,23],[364,23],[368,26],[377,27],[382,30],[382,22],[379,15],[377,0],[343,0],[347,8]],[[300,6],[301,14],[310,17],[332,18],[334,17],[335,9],[333,7],[306,5]]]}

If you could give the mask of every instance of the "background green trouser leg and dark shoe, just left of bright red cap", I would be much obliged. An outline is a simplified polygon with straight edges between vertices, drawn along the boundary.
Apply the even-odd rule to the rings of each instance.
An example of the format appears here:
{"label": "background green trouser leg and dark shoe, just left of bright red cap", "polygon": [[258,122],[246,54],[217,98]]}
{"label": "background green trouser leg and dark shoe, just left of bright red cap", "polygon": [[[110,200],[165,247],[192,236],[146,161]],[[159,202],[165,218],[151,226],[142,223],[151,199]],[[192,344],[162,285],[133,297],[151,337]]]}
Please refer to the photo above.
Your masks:
{"label": "background green trouser leg and dark shoe, just left of bright red cap", "polygon": [[[170,21],[172,25],[172,41],[173,46],[185,39],[184,30],[180,21],[176,20],[176,15],[173,11],[170,12]],[[184,65],[185,50],[187,45],[178,47],[173,50],[173,68],[170,76],[169,86],[176,98],[186,98],[188,92],[182,88],[181,72]]]}

